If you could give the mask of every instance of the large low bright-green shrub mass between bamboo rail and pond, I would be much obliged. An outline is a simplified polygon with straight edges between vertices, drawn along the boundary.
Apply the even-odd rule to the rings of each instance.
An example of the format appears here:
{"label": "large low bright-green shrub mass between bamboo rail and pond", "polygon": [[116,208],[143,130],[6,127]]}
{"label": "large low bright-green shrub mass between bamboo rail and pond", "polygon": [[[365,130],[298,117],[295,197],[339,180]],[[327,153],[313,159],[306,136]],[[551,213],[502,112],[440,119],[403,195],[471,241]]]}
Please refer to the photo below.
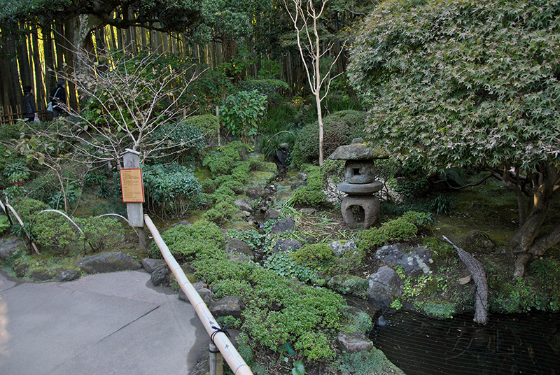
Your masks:
{"label": "large low bright-green shrub mass between bamboo rail and pond", "polygon": [[[288,256],[286,260],[295,264]],[[310,360],[332,358],[333,330],[340,326],[344,309],[341,296],[293,283],[253,262],[229,262],[223,253],[212,259],[197,257],[193,267],[197,279],[211,284],[217,297],[241,297],[246,306],[241,331],[255,346],[276,351],[288,342]]]}

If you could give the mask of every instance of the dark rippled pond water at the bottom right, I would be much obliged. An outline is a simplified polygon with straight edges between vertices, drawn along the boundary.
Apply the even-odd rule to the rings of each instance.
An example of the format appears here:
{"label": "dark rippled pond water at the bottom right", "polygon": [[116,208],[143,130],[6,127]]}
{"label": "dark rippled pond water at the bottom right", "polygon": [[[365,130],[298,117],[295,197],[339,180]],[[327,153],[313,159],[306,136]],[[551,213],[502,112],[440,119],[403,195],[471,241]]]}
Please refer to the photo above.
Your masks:
{"label": "dark rippled pond water at the bottom right", "polygon": [[370,339],[407,375],[560,375],[560,314],[472,315],[436,320],[416,313],[384,316]]}

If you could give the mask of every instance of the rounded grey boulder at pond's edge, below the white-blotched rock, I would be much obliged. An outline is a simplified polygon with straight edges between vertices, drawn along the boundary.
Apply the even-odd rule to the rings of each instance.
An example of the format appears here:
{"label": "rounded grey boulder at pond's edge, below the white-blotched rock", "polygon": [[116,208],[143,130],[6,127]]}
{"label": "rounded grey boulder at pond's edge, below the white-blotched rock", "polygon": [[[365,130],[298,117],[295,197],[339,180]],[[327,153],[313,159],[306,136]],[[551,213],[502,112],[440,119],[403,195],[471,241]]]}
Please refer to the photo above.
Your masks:
{"label": "rounded grey boulder at pond's edge, below the white-blotched rock", "polygon": [[379,307],[389,307],[395,298],[400,297],[405,289],[405,283],[400,276],[388,266],[379,267],[375,274],[367,278],[367,299],[370,304]]}

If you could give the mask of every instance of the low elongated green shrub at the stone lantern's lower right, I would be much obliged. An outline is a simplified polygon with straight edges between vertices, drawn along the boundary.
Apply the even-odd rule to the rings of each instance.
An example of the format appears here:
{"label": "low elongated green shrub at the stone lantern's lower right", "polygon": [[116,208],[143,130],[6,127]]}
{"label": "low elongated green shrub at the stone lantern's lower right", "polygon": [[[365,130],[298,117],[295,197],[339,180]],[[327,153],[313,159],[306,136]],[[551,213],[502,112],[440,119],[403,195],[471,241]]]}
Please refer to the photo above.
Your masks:
{"label": "low elongated green shrub at the stone lantern's lower right", "polygon": [[408,211],[400,218],[384,222],[381,227],[360,232],[359,246],[374,249],[390,241],[411,239],[418,233],[417,225],[426,225],[428,222],[429,216],[426,213]]}

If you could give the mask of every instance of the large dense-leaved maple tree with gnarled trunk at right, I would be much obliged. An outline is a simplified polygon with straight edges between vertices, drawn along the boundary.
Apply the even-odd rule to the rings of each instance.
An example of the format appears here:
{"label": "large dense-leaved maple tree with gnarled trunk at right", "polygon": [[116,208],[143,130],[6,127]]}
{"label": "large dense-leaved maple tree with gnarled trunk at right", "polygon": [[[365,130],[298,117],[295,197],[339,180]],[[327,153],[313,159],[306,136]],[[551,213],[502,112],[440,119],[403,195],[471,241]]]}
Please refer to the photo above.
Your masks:
{"label": "large dense-leaved maple tree with gnarled trunk at right", "polygon": [[559,15],[558,0],[384,1],[349,66],[372,141],[432,170],[492,170],[518,196],[510,248],[533,255],[560,240],[538,234],[560,194]]}

